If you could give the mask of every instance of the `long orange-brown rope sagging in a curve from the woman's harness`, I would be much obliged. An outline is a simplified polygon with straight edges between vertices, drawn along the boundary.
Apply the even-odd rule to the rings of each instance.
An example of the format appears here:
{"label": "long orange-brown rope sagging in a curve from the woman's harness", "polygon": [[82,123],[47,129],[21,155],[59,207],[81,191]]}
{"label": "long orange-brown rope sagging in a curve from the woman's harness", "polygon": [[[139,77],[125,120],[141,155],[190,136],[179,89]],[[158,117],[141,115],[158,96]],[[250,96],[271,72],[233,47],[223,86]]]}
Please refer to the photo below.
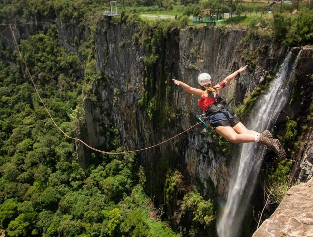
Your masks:
{"label": "long orange-brown rope sagging in a curve from the woman's harness", "polygon": [[88,147],[88,148],[90,148],[90,149],[92,149],[92,150],[94,150],[94,151],[101,152],[101,153],[105,153],[105,154],[115,154],[115,155],[118,155],[118,154],[125,154],[125,153],[131,153],[131,152],[139,152],[139,151],[143,151],[143,150],[147,150],[147,149],[150,149],[150,148],[159,146],[159,145],[161,145],[162,143],[166,143],[166,142],[168,142],[169,140],[172,140],[173,138],[178,137],[178,136],[181,135],[182,133],[187,132],[187,131],[190,130],[191,128],[193,128],[193,127],[197,126],[199,123],[201,123],[201,122],[198,122],[198,123],[196,123],[195,125],[193,125],[192,127],[187,128],[185,131],[183,131],[183,132],[181,132],[181,133],[175,135],[174,137],[169,138],[169,139],[167,139],[167,140],[165,140],[165,141],[163,141],[163,142],[161,142],[161,143],[158,143],[158,144],[156,144],[156,145],[154,145],[154,146],[146,147],[146,148],[142,148],[142,149],[134,150],[134,151],[127,151],[127,152],[105,152],[105,151],[101,151],[101,150],[98,150],[98,149],[96,149],[96,148],[93,148],[93,147],[89,146],[89,145],[86,144],[84,141],[80,140],[79,138],[72,138],[72,137],[70,137],[69,135],[67,135],[61,128],[59,128],[59,126],[54,122],[54,119],[52,118],[52,116],[51,116],[49,110],[47,109],[46,105],[44,104],[44,101],[41,99],[41,97],[40,97],[40,95],[39,95],[39,93],[38,93],[38,90],[37,90],[37,88],[36,88],[36,85],[35,85],[35,83],[34,83],[34,81],[33,81],[33,77],[32,77],[32,75],[30,74],[30,72],[29,72],[29,70],[28,70],[28,67],[27,67],[27,64],[26,64],[26,62],[25,62],[25,60],[24,60],[24,58],[23,58],[23,56],[22,56],[22,54],[21,54],[21,51],[20,51],[19,47],[18,47],[18,43],[17,43],[17,41],[16,41],[16,39],[15,39],[14,32],[13,32],[13,30],[12,30],[11,25],[9,25],[9,27],[10,27],[10,30],[11,30],[11,33],[12,33],[12,36],[13,36],[13,40],[14,40],[14,42],[15,42],[15,45],[16,45],[16,47],[17,47],[17,49],[18,49],[19,56],[20,56],[21,59],[23,60],[23,63],[24,63],[24,65],[25,65],[25,67],[26,67],[26,70],[27,70],[27,72],[28,72],[28,75],[29,75],[29,77],[30,77],[30,79],[31,79],[31,81],[32,81],[32,83],[33,83],[34,88],[35,88],[36,94],[38,95],[38,97],[39,97],[41,103],[44,105],[44,108],[47,110],[47,112],[48,112],[48,114],[49,114],[49,116],[50,116],[50,119],[52,120],[52,122],[54,123],[54,125],[55,125],[66,137],[68,137],[68,138],[70,138],[70,139],[73,139],[73,140],[80,141],[80,142],[83,143],[86,147]]}

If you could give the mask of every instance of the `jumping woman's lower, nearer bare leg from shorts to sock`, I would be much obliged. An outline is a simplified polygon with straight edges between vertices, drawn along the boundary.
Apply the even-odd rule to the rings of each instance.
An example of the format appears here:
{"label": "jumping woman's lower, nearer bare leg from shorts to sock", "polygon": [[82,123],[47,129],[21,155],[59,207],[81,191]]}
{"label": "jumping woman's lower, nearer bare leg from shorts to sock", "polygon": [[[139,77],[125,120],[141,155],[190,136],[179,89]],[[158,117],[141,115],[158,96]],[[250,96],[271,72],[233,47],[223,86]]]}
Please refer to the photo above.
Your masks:
{"label": "jumping woman's lower, nearer bare leg from shorts to sock", "polygon": [[221,135],[226,140],[232,143],[254,143],[255,142],[255,135],[251,133],[236,133],[236,131],[230,127],[218,126],[215,128],[215,131]]}

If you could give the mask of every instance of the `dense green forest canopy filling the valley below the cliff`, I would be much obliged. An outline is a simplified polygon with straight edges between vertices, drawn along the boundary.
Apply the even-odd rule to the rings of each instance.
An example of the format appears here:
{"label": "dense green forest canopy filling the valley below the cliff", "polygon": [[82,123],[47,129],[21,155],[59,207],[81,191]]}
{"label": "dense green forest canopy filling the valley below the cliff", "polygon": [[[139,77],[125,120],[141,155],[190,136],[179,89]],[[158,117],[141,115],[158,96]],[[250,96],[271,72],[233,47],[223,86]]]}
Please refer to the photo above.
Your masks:
{"label": "dense green forest canopy filling the valley below the cliff", "polygon": [[[82,61],[59,46],[55,27],[19,47],[56,123],[73,135],[83,90],[77,76]],[[0,55],[0,220],[7,236],[176,236],[148,218],[151,200],[136,155],[96,159],[92,154],[95,162],[83,170],[76,162],[75,143],[47,116],[17,51],[2,47]],[[116,130],[107,131],[112,144],[106,148],[121,150]]]}

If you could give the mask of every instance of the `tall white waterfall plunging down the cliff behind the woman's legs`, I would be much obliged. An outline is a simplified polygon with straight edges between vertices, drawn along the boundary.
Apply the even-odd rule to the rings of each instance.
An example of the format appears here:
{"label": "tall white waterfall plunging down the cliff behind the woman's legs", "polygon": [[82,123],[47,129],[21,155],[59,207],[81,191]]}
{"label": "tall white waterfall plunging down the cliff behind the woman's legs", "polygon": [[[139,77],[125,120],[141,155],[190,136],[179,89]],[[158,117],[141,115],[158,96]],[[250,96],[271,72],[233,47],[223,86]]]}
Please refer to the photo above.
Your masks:
{"label": "tall white waterfall plunging down the cliff behind the woman's legs", "polygon": [[[258,98],[250,114],[250,121],[246,124],[249,129],[260,133],[265,129],[271,130],[280,111],[289,101],[296,67],[296,60],[290,62],[291,55],[291,52],[287,54],[269,89]],[[265,149],[255,143],[244,143],[240,146],[240,162],[230,179],[225,210],[218,220],[219,237],[239,236],[242,220],[265,154]]]}

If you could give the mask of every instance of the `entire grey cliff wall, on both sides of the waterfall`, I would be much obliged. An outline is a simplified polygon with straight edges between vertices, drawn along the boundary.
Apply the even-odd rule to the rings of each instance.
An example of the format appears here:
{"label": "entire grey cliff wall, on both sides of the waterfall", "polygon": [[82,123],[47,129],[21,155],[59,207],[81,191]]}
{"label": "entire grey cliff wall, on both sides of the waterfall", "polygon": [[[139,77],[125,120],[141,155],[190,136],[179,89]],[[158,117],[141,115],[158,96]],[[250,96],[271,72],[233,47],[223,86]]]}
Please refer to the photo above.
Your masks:
{"label": "entire grey cliff wall, on both sides of the waterfall", "polygon": [[[13,30],[17,38],[29,38],[32,32],[49,27],[49,24],[42,24],[33,28],[13,27]],[[248,62],[249,71],[235,78],[221,94],[226,101],[234,98],[232,104],[238,104],[243,102],[244,97],[248,96],[266,75],[275,74],[287,51],[284,46],[271,45],[257,37],[246,37],[247,33],[238,29],[172,29],[163,36],[162,47],[157,51],[158,59],[150,65],[153,73],[149,75],[146,59],[150,52],[141,41],[141,27],[139,24],[112,24],[105,19],[98,23],[93,33],[97,69],[108,77],[92,85],[97,97],[96,103],[88,98],[83,102],[86,123],[82,137],[91,146],[102,146],[108,142],[104,131],[105,126],[110,123],[119,130],[126,150],[149,147],[171,138],[197,123],[196,115],[202,111],[197,106],[197,97],[170,85],[170,78],[197,87],[197,68],[208,72],[213,81],[218,82]],[[84,41],[91,33],[86,24],[78,26],[59,23],[57,30],[60,43],[69,52],[79,51],[78,45],[73,43],[75,37]],[[9,31],[5,34],[3,43],[13,46],[9,40]],[[138,34],[139,40],[135,40],[135,34]],[[155,37],[152,30],[150,37]],[[312,63],[312,48],[306,47],[303,50],[299,62],[296,76],[302,84],[295,86],[308,87],[305,92],[308,102],[311,100],[312,88],[310,80],[302,78],[308,78],[306,75],[311,74],[309,65]],[[81,72],[81,76],[84,76],[84,72]],[[150,102],[156,95],[160,97],[158,103],[161,105],[161,111],[167,103],[170,104],[171,118],[168,123],[158,121],[162,114],[151,119],[145,104],[139,103],[144,99],[145,92],[150,94]],[[297,119],[299,114],[304,116],[309,107],[307,104],[294,103],[289,111],[292,119]],[[226,196],[228,177],[231,173],[230,161],[235,152],[232,151],[231,155],[222,152],[222,148],[217,146],[217,141],[212,136],[200,133],[202,129],[203,126],[198,125],[179,138],[138,152],[137,156],[151,177],[156,172],[160,157],[167,157],[171,167],[187,167],[189,174],[203,184],[204,193],[210,183],[208,181],[212,180],[218,194]],[[293,171],[294,179],[302,177],[299,181],[305,181],[312,175],[310,134],[308,129],[306,138],[309,143],[306,145],[304,141]],[[77,150],[81,166],[86,167],[90,150],[80,143],[77,143]]]}

